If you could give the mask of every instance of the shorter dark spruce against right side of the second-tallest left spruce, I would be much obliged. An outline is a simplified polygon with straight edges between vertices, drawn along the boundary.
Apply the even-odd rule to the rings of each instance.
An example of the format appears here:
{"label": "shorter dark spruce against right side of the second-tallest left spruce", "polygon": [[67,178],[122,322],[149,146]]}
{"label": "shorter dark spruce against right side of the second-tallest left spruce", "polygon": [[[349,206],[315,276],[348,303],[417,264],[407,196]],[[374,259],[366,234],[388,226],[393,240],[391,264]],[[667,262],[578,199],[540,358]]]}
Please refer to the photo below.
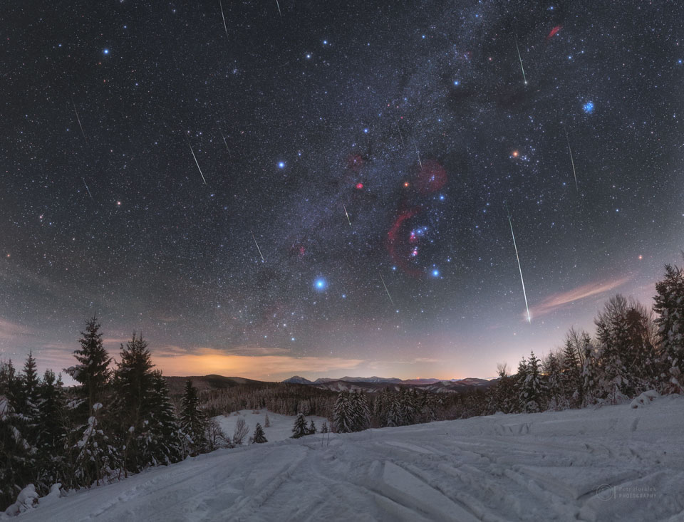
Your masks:
{"label": "shorter dark spruce against right side of the second-tallest left spruce", "polygon": [[170,399],[169,387],[159,370],[152,372],[149,405],[152,415],[147,452],[152,465],[172,464],[184,459],[183,434]]}

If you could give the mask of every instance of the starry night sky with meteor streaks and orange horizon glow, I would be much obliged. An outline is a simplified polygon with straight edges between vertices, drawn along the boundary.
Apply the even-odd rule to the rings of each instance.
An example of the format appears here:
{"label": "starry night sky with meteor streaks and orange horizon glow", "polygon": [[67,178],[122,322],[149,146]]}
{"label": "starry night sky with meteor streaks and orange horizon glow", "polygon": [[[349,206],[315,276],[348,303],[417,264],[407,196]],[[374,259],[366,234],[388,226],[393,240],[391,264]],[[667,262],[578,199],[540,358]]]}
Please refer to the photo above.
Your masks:
{"label": "starry night sky with meteor streaks and orange horizon glow", "polygon": [[682,4],[58,4],[4,8],[4,358],[492,377],[680,261]]}

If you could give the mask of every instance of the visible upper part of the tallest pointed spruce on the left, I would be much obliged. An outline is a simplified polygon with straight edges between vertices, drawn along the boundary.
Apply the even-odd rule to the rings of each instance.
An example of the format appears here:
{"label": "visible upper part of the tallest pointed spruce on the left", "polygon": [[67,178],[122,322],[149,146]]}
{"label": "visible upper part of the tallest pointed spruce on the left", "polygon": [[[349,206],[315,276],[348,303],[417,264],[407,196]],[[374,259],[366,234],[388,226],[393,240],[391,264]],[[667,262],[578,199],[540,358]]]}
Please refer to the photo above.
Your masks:
{"label": "visible upper part of the tallest pointed spruce on the left", "polygon": [[111,357],[102,344],[100,323],[95,315],[86,323],[86,331],[81,332],[81,350],[75,350],[78,365],[67,368],[68,375],[79,382],[85,390],[88,400],[88,415],[93,411],[93,405],[102,402],[105,387],[108,384]]}

